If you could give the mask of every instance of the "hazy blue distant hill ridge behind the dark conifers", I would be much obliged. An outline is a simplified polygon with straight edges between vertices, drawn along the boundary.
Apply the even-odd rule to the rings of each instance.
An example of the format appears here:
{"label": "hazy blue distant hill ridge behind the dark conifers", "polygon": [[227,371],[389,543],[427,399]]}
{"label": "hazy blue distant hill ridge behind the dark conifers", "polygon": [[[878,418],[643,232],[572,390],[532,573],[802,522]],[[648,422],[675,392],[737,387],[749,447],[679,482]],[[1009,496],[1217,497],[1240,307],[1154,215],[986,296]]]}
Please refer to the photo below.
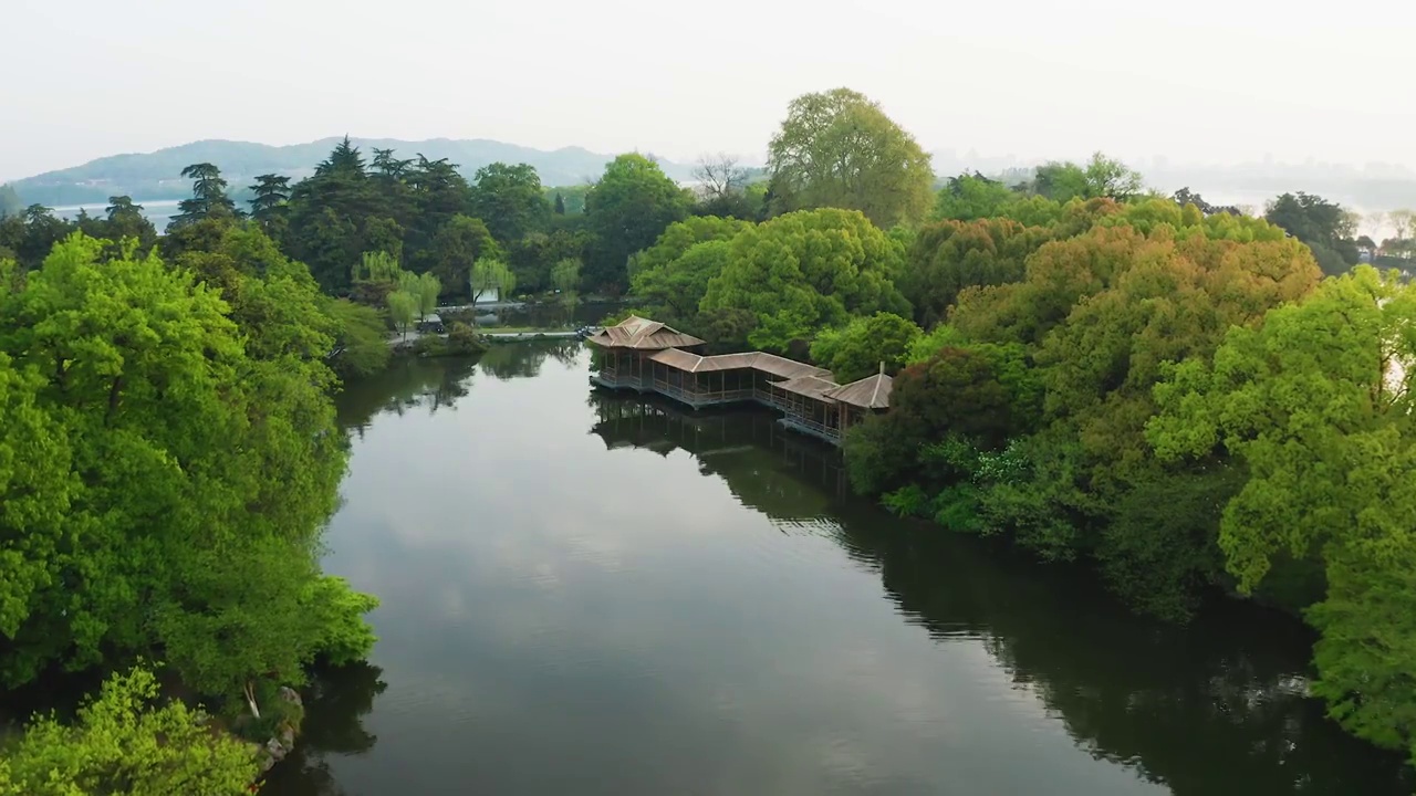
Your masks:
{"label": "hazy blue distant hill ridge behind the dark conifers", "polygon": [[[112,154],[91,160],[84,166],[47,171],[10,183],[24,204],[65,207],[106,203],[110,195],[130,195],[135,200],[174,200],[191,193],[191,183],[181,178],[181,170],[193,163],[215,163],[224,177],[239,193],[256,174],[289,174],[295,178],[314,171],[338,137],[320,139],[290,146],[262,143],[202,140],[160,149],[144,154]],[[446,157],[469,178],[489,163],[528,163],[541,174],[545,186],[575,186],[593,180],[605,170],[612,154],[599,154],[581,147],[554,152],[531,149],[503,142],[474,139],[432,139],[405,142],[396,139],[351,139],[372,160],[374,149],[392,149],[399,157],[418,153],[432,160]],[[692,166],[660,159],[660,166],[675,180],[691,178]]]}

